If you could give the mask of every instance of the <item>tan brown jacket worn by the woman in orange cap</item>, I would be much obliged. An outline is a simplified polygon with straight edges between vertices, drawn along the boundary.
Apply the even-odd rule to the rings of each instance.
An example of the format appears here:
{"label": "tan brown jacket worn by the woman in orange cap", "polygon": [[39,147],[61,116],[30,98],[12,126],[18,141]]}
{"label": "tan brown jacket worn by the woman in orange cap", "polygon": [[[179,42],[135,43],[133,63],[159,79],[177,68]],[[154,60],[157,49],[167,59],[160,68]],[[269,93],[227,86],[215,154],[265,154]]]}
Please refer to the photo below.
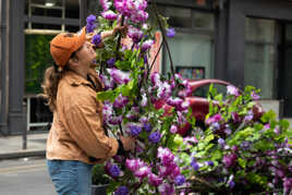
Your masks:
{"label": "tan brown jacket worn by the woman in orange cap", "polygon": [[[96,163],[117,154],[119,143],[105,134],[104,105],[96,99],[102,84],[94,70],[89,77],[96,86],[72,71],[61,78],[57,110],[47,141],[47,159]],[[89,160],[89,157],[96,160]]]}

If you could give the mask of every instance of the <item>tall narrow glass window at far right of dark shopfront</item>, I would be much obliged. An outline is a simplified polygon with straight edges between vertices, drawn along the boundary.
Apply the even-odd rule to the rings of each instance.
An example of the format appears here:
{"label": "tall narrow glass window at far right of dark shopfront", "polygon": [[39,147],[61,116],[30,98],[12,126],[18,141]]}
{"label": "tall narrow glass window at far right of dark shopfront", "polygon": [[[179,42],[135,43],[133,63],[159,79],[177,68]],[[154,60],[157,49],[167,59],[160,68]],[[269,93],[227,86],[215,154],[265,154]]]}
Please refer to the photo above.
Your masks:
{"label": "tall narrow glass window at far right of dark shopfront", "polygon": [[273,96],[275,21],[247,19],[245,25],[244,85],[261,89],[261,98]]}

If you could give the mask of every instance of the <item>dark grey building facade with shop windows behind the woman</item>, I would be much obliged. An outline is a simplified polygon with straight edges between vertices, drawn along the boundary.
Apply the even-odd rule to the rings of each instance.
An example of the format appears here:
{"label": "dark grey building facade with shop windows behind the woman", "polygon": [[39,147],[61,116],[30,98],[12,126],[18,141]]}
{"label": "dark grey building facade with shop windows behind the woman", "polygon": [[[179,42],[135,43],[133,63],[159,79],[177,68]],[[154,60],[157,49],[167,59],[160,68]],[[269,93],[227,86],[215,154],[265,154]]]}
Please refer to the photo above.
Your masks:
{"label": "dark grey building facade with shop windows behind the woman", "polygon": [[[0,2],[0,134],[47,130],[51,113],[37,97],[50,64],[49,40],[76,32],[98,0]],[[168,39],[177,72],[261,89],[261,102],[292,118],[292,1],[156,0],[177,36]],[[15,12],[15,10],[17,10]],[[149,9],[150,21],[155,20]],[[170,71],[162,49],[161,73]]]}

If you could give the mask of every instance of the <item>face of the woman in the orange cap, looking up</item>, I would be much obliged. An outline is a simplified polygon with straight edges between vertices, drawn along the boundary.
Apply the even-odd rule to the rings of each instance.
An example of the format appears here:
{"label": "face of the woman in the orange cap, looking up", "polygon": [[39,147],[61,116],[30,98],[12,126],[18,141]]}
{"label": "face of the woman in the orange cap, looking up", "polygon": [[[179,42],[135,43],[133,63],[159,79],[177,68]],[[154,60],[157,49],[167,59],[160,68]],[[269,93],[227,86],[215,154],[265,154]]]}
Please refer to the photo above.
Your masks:
{"label": "face of the woman in the orange cap, looking up", "polygon": [[76,51],[76,57],[78,58],[80,63],[90,65],[96,59],[96,52],[93,48],[93,44],[85,41],[81,49]]}

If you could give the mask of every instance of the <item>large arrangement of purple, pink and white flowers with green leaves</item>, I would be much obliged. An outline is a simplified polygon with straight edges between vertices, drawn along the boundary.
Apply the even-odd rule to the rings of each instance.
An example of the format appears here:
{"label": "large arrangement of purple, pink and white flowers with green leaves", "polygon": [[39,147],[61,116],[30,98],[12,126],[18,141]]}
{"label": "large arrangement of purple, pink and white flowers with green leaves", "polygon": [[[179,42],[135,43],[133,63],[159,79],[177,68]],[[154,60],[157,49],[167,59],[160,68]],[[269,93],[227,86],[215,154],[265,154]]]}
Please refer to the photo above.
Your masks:
{"label": "large arrangement of purple, pink and white flowers with green leaves", "polygon": [[[121,23],[129,26],[131,46],[122,44],[118,35],[104,40],[102,49],[97,48],[98,72],[107,89],[97,98],[104,101],[109,134],[127,134],[137,141],[134,153],[106,163],[110,193],[171,195],[253,191],[254,186],[259,192],[291,190],[289,124],[276,121],[272,112],[255,119],[255,88],[240,94],[230,86],[224,101],[210,88],[215,99],[209,98],[208,129],[199,131],[184,100],[191,95],[188,82],[174,74],[172,63],[170,76],[150,74],[155,60],[149,62],[149,49],[156,41],[155,32],[159,28],[163,37],[158,52],[162,45],[168,49],[166,37],[175,35],[156,4],[150,4],[155,24],[147,21],[146,0],[100,0],[100,4],[101,16],[87,17],[87,32],[96,31],[97,23],[98,31]],[[93,42],[100,44],[98,32]],[[192,136],[182,137],[178,131],[186,122],[193,127]]]}

